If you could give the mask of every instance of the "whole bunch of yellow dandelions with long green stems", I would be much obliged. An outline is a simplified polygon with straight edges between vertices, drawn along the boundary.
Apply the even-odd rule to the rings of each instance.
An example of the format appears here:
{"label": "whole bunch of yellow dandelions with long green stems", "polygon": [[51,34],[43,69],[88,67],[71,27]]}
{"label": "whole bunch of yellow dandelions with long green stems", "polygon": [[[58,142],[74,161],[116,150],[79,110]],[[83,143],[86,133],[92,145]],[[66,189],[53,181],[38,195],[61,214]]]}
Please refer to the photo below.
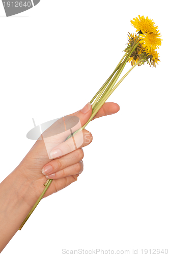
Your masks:
{"label": "whole bunch of yellow dandelions with long green stems", "polygon": [[[99,91],[95,94],[92,98],[90,103],[92,104],[92,115],[88,122],[83,125],[79,130],[74,132],[70,135],[67,139],[71,136],[74,136],[77,132],[83,130],[87,124],[93,119],[96,113],[100,110],[101,106],[104,102],[108,99],[112,92],[119,86],[119,84],[123,81],[123,79],[133,70],[136,66],[141,66],[145,62],[149,63],[150,67],[156,67],[159,60],[159,54],[157,53],[156,49],[159,48],[161,45],[160,33],[158,27],[155,26],[155,23],[152,19],[148,17],[138,15],[138,18],[133,18],[131,20],[131,24],[134,26],[137,34],[129,33],[128,35],[128,43],[127,47],[124,50],[125,54],[123,58],[118,63],[116,69],[109,78],[105,81],[103,86],[99,89]],[[125,65],[127,62],[131,62],[132,68],[118,81]],[[42,197],[46,193],[49,185],[51,184],[52,180],[47,180],[45,185],[45,189],[33,206],[32,210],[29,212],[25,220],[22,222],[19,230],[23,227],[24,223],[29,219],[32,212],[35,210],[39,202],[41,201]]]}

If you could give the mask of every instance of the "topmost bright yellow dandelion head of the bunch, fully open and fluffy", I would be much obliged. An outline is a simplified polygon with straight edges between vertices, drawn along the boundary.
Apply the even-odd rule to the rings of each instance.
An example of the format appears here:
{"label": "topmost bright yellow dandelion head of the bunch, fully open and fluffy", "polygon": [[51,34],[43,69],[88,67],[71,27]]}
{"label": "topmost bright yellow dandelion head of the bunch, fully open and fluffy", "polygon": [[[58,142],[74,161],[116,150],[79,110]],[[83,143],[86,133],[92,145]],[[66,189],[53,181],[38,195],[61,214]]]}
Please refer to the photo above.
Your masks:
{"label": "topmost bright yellow dandelion head of the bunch, fully open and fluffy", "polygon": [[131,24],[134,26],[136,31],[142,31],[143,34],[150,33],[155,34],[158,26],[155,26],[155,22],[152,19],[138,15],[139,18],[133,18]]}

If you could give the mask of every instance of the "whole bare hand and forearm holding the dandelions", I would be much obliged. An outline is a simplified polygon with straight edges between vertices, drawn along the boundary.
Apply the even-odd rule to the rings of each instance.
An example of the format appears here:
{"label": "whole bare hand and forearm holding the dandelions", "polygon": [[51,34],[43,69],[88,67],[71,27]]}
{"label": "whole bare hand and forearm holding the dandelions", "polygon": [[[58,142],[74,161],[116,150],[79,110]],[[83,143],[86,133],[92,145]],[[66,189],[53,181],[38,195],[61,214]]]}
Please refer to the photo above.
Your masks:
{"label": "whole bare hand and forearm holding the dandelions", "polygon": [[[89,107],[88,103],[81,111],[77,111],[65,119],[69,118],[68,120],[72,121],[79,118],[81,125],[84,125],[92,114],[92,108]],[[93,119],[114,114],[119,109],[119,105],[116,103],[104,103]],[[69,121],[66,124],[69,125]],[[60,133],[61,122],[62,120],[58,120],[42,134],[43,140],[36,141],[18,167],[0,184],[0,252],[17,232],[42,194],[46,178],[52,177],[53,181],[47,189],[45,197],[76,181],[79,173],[82,172],[83,152],[81,147],[91,143],[92,135],[87,130],[83,130],[82,137],[80,133],[77,133],[73,138],[66,140],[70,129]],[[78,124],[72,128],[72,132],[76,131]],[[53,135],[53,131],[54,137],[48,137],[48,135]],[[77,148],[75,145],[78,145]],[[60,155],[56,155],[56,153],[60,153]],[[44,172],[49,165],[52,170],[48,175],[52,176],[45,177]]]}

